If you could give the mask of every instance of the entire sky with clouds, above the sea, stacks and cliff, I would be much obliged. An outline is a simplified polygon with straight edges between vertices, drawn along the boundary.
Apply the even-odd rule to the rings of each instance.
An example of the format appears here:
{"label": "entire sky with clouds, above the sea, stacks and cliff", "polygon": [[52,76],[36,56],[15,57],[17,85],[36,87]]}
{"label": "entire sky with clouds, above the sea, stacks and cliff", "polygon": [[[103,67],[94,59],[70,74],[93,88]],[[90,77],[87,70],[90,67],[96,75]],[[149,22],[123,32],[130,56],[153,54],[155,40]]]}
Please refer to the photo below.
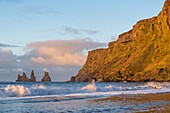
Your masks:
{"label": "entire sky with clouds, above the sea, stacks and cliff", "polygon": [[0,0],[0,81],[47,70],[53,81],[75,76],[87,52],[141,19],[156,16],[164,0]]}

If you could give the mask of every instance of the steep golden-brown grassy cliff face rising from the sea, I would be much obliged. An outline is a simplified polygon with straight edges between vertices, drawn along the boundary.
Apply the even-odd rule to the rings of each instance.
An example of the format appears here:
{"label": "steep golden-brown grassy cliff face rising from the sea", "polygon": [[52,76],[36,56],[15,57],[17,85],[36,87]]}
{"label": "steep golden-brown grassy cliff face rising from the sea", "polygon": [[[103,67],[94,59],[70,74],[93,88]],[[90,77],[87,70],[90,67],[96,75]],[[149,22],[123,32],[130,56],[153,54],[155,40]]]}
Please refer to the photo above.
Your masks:
{"label": "steep golden-brown grassy cliff face rising from the sea", "polygon": [[137,22],[133,29],[90,51],[75,82],[170,81],[170,0],[158,16]]}

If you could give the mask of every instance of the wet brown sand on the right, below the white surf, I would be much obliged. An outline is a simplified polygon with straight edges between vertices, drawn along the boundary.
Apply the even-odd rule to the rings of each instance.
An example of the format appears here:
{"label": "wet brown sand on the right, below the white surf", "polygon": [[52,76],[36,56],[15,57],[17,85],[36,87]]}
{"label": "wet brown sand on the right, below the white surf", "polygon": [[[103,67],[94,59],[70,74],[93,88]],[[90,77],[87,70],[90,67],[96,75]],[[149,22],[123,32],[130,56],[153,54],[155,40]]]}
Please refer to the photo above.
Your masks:
{"label": "wet brown sand on the right, below the white surf", "polygon": [[[170,93],[119,95],[92,100],[93,103],[105,103],[111,112],[126,113],[170,113]],[[112,108],[111,105],[114,107]],[[119,107],[115,107],[119,106]]]}

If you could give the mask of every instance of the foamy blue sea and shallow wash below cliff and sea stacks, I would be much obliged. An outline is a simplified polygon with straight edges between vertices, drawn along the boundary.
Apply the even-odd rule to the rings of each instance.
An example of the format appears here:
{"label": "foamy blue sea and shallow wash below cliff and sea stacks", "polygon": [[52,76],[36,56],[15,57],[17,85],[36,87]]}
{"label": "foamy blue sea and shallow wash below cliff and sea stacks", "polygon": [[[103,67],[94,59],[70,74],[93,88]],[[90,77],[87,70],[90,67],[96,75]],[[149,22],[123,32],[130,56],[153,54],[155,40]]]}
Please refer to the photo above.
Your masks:
{"label": "foamy blue sea and shallow wash below cliff and sea stacks", "polygon": [[[170,83],[168,82],[0,82],[0,113],[107,113],[169,110],[166,109],[170,107],[169,93]],[[161,99],[159,96],[155,99],[157,94],[168,95],[160,95]],[[147,97],[153,99],[147,100]]]}

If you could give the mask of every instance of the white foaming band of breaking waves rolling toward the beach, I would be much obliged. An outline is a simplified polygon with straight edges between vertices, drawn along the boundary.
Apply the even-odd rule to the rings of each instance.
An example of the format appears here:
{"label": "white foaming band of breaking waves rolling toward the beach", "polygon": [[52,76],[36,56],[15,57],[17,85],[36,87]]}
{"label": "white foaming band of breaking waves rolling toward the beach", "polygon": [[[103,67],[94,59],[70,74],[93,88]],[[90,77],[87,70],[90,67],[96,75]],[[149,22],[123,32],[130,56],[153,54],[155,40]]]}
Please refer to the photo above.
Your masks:
{"label": "white foaming band of breaking waves rolling toward the beach", "polygon": [[113,96],[121,94],[150,94],[150,93],[162,93],[170,92],[170,83],[157,83],[148,82],[143,84],[130,84],[117,85],[109,83],[95,83],[81,84],[79,87],[73,85],[72,87],[67,86],[61,87],[57,85],[44,85],[44,84],[33,84],[27,85],[7,85],[0,88],[0,98],[24,98],[24,97],[41,97],[41,96],[69,96],[73,98],[78,97],[91,97],[91,96]]}

